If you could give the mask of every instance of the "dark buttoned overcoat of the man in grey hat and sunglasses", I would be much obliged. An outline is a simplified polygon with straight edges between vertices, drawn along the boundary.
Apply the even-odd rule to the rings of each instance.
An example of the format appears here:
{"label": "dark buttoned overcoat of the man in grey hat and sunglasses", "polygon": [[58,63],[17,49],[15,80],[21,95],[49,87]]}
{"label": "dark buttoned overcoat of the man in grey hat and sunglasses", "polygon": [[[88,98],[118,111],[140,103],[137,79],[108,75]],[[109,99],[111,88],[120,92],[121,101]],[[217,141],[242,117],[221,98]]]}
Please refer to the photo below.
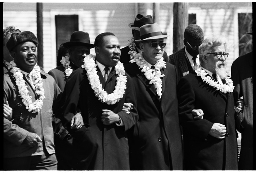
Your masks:
{"label": "dark buttoned overcoat of the man in grey hat and sunglasses", "polygon": [[176,68],[161,69],[162,97],[136,63],[125,66],[136,89],[139,120],[131,142],[132,170],[182,170],[181,131],[178,119]]}

